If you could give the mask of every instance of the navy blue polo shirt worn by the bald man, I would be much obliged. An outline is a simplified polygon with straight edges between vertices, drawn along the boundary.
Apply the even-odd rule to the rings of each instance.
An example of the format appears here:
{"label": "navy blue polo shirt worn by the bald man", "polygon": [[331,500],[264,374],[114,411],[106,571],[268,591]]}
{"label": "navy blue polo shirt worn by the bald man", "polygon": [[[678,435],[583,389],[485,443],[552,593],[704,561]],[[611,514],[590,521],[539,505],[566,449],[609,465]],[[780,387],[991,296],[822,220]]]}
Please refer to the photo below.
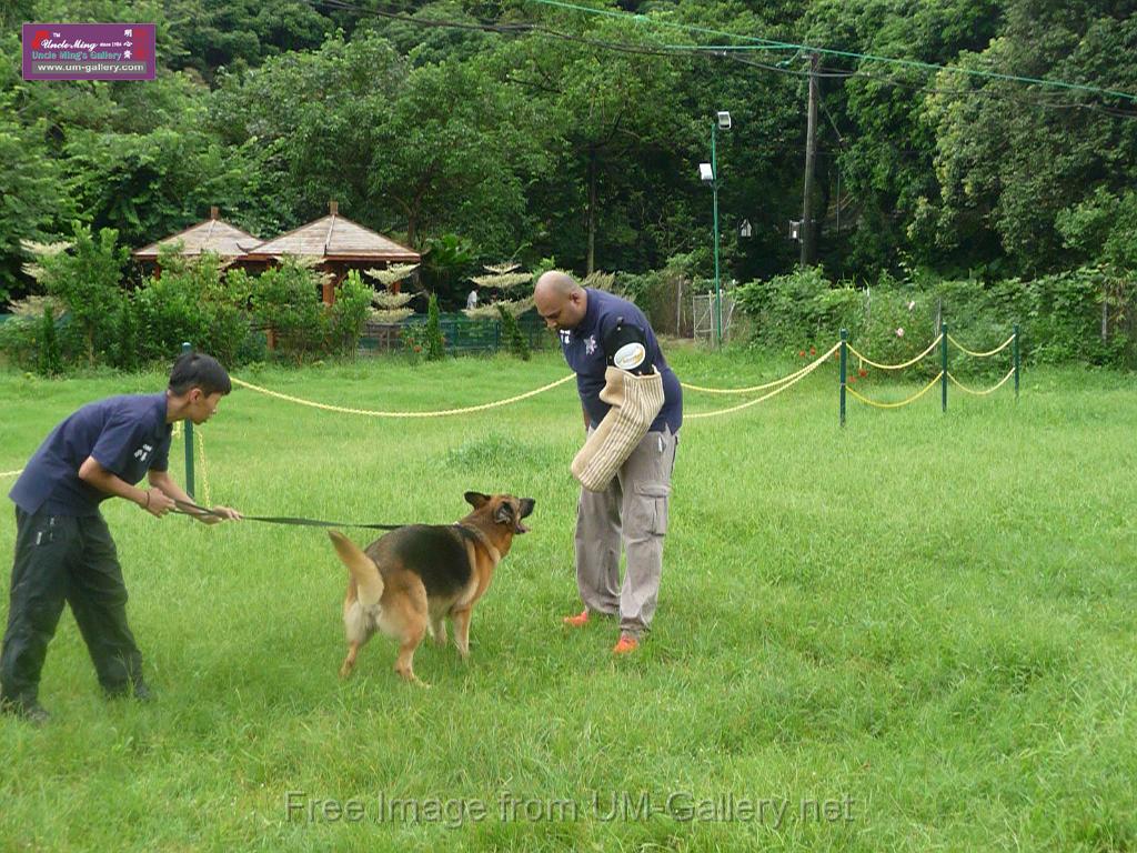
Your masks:
{"label": "navy blue polo shirt worn by the bald man", "polygon": [[683,391],[679,378],[667,366],[667,361],[659,349],[652,324],[644,312],[634,304],[604,290],[586,288],[588,305],[584,318],[575,329],[561,330],[561,351],[565,361],[576,374],[576,391],[584,404],[588,417],[596,426],[612,408],[600,399],[604,390],[604,371],[608,366],[608,354],[604,351],[604,339],[615,328],[616,321],[623,318],[624,325],[632,325],[644,332],[647,357],[663,374],[663,408],[652,422],[653,432],[663,432],[664,425],[672,433],[679,432],[683,423]]}

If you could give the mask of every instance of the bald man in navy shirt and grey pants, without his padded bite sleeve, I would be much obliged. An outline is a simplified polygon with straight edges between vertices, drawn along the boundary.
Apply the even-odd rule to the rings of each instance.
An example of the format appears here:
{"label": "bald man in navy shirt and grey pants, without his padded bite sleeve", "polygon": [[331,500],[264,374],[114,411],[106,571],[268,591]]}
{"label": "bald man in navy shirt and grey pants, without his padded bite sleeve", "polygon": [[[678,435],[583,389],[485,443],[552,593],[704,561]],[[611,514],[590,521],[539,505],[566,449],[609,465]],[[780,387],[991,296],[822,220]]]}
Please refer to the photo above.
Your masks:
{"label": "bald man in navy shirt and grey pants, without his padded bite sleeve", "polygon": [[[556,271],[538,279],[533,299],[546,325],[559,336],[565,361],[576,373],[589,432],[608,413],[599,395],[609,365],[637,373],[654,368],[663,376],[663,408],[647,436],[607,489],[581,489],[576,507],[576,588],[584,610],[565,616],[564,623],[581,628],[594,613],[619,616],[620,639],[612,651],[628,654],[648,631],[659,594],[671,472],[683,421],[682,390],[652,324],[632,303],[582,288]],[[628,557],[623,583],[621,548]]]}

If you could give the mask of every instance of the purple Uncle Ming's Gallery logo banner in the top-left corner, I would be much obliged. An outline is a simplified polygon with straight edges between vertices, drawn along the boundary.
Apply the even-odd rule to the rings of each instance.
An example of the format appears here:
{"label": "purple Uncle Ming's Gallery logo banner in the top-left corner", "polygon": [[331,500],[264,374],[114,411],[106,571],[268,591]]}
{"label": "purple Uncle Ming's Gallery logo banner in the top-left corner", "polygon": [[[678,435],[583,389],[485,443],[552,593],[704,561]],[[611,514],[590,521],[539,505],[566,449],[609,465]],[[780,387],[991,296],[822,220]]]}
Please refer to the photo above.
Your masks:
{"label": "purple Uncle Ming's Gallery logo banner in the top-left corner", "polygon": [[24,80],[153,80],[153,24],[24,24]]}

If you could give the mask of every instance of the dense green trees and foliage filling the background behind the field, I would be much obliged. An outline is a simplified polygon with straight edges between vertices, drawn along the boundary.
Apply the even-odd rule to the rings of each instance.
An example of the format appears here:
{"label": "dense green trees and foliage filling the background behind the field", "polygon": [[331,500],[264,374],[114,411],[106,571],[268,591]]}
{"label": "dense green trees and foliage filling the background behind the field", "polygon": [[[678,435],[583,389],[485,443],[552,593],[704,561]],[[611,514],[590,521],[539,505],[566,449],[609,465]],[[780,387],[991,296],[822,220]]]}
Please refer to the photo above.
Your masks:
{"label": "dense green trees and foliage filling the background behind the field", "polygon": [[[1137,99],[1078,86],[1137,93],[1132,0],[595,8],[605,14],[541,0],[9,3],[0,11],[0,299],[44,291],[24,272],[32,258],[22,241],[63,235],[81,252],[84,240],[115,233],[119,247],[136,248],[210,205],[271,237],[334,198],[346,216],[425,252],[420,282],[443,310],[457,307],[481,262],[513,258],[530,270],[617,271],[644,301],[677,306],[680,330],[683,281],[713,271],[711,192],[697,172],[712,140],[723,281],[785,282],[772,276],[797,266],[788,224],[802,216],[810,50],[787,44],[823,51],[816,262],[836,280],[863,289],[893,276],[924,300],[935,282],[972,281],[989,299],[996,282],[1041,292],[1096,274],[1070,271],[1096,270],[1121,282],[1097,289],[1099,308],[1128,298]],[[156,22],[158,78],[23,81],[16,25],[59,19]],[[762,50],[691,49],[712,44]],[[720,109],[732,127],[713,132]],[[749,238],[739,235],[744,220]],[[98,299],[115,267],[141,288],[111,317]],[[290,276],[238,280],[243,296],[206,293],[209,322],[224,326],[246,298],[256,310],[277,306],[281,334],[299,354],[339,336],[312,324],[308,296],[284,316]],[[68,287],[66,276],[56,287]],[[125,364],[134,356],[123,336],[182,333],[167,315],[202,285],[146,283],[115,256],[93,287],[96,300],[60,329],[59,346],[90,359],[118,342],[110,361]],[[174,304],[158,306],[166,289]],[[252,346],[218,339],[230,350]]]}

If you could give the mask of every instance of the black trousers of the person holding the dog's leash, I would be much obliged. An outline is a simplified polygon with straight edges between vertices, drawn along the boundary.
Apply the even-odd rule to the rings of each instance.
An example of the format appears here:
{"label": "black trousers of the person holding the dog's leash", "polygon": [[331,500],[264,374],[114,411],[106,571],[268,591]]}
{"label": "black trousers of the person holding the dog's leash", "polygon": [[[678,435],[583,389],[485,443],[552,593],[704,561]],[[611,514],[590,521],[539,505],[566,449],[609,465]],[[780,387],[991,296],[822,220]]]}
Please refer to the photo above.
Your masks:
{"label": "black trousers of the person holding the dog's leash", "polygon": [[16,508],[8,629],[0,651],[0,693],[36,698],[48,644],[64,602],[86,643],[103,689],[126,690],[142,676],[142,655],[126,623],[126,585],[101,515],[27,514]]}

